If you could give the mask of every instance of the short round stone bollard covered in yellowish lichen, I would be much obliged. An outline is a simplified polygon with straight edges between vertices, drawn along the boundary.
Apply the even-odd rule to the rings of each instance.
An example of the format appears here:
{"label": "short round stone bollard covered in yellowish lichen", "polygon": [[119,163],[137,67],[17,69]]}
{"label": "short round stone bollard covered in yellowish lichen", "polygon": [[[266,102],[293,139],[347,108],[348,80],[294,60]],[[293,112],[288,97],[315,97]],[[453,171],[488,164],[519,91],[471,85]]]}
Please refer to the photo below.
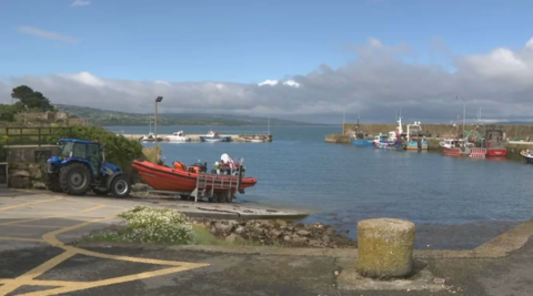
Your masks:
{"label": "short round stone bollard covered in yellowish lichen", "polygon": [[358,272],[390,278],[411,273],[414,224],[398,218],[372,218],[358,223]]}

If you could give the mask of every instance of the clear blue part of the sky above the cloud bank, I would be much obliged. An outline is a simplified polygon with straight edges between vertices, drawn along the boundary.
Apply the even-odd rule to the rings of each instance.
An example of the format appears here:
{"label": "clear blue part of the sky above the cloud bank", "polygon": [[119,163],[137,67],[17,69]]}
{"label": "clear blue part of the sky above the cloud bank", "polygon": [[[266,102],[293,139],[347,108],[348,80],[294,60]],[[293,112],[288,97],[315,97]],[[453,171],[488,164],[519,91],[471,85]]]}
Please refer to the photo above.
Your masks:
{"label": "clear blue part of the sky above the cloud bank", "polygon": [[[431,58],[432,38],[454,54],[522,47],[531,1],[17,0],[0,2],[0,75],[74,73],[165,81],[261,82],[354,59],[376,38]],[[57,32],[47,40],[18,27]],[[436,55],[439,57],[439,55]]]}

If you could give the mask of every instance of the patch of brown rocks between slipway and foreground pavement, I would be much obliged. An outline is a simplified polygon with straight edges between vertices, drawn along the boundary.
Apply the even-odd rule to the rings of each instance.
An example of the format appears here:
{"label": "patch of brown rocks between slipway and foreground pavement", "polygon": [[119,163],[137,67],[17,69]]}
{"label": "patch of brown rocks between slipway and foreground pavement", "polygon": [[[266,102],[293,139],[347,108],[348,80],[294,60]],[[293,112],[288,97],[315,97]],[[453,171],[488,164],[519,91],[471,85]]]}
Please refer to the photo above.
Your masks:
{"label": "patch of brown rocks between slipway and foreground pavement", "polygon": [[227,241],[251,241],[262,245],[291,247],[356,247],[356,243],[323,224],[291,225],[282,220],[191,218],[212,234]]}

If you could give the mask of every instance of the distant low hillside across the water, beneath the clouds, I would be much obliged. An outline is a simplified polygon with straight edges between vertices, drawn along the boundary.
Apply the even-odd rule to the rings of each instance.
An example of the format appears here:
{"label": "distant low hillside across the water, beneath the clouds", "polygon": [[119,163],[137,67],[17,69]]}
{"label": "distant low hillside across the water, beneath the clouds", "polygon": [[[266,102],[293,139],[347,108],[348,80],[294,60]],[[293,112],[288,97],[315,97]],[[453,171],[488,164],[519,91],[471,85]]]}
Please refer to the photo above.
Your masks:
{"label": "distant low hillside across the water, beneath the clouds", "polygon": [[[109,110],[100,110],[88,106],[57,104],[60,111],[69,112],[88,122],[100,126],[113,125],[148,125],[153,121],[153,113],[140,114]],[[202,113],[160,113],[160,125],[266,125],[266,118],[245,115],[202,114]],[[270,119],[270,125],[310,125],[310,123]]]}

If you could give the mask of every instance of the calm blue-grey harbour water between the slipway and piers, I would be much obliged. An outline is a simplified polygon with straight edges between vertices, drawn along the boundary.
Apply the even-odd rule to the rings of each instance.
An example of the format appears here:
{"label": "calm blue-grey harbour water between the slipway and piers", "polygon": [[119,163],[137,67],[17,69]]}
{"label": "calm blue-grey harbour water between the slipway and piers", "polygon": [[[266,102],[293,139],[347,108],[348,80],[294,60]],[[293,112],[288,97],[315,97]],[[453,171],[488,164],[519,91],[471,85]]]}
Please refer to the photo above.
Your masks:
{"label": "calm blue-grey harbour water between the slipway and piers", "polygon": [[[145,126],[114,132],[148,133]],[[214,127],[213,127],[214,129]],[[160,126],[160,134],[210,126]],[[221,133],[264,132],[262,126],[219,126]],[[161,143],[167,164],[199,160],[211,166],[222,153],[244,157],[258,184],[239,202],[304,208],[305,222],[353,229],[370,217],[400,217],[418,224],[523,221],[533,214],[533,165],[473,160],[432,152],[383,151],[326,144],[341,126],[272,126],[272,143]],[[150,145],[150,144],[148,144]]]}

